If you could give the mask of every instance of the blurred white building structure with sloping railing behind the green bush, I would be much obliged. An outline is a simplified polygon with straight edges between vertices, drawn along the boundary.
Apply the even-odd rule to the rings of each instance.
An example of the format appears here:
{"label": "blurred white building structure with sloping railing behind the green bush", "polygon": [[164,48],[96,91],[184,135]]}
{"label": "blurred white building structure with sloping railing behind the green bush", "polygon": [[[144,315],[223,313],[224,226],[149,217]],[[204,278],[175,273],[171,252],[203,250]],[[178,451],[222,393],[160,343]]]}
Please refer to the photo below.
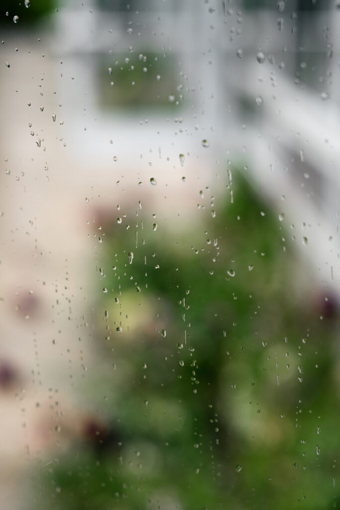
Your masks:
{"label": "blurred white building structure with sloping railing behind the green bush", "polygon": [[[211,184],[216,168],[223,190],[227,160],[239,166],[242,159],[247,179],[294,225],[302,257],[340,297],[340,10],[326,3],[315,10],[312,2],[299,11],[302,4],[247,10],[232,0],[67,2],[55,18],[53,48],[63,60],[65,132],[79,162],[111,166],[115,155],[129,168],[130,185],[154,176],[188,204],[179,154],[186,155],[182,173],[199,181],[193,195],[202,180]],[[120,59],[117,75],[122,57],[148,52],[175,60],[176,107],[165,114],[143,104],[100,106],[100,55]]]}

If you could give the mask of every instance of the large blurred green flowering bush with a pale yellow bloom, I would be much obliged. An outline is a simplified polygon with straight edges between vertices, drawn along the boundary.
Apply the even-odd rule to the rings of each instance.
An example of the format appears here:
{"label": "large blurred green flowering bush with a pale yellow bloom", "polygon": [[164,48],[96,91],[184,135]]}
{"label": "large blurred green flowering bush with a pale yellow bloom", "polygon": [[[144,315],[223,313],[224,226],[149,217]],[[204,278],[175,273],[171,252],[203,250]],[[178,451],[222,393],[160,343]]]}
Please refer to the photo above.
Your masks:
{"label": "large blurred green flowering bush with a pale yellow bloom", "polygon": [[285,220],[234,181],[234,203],[190,232],[154,231],[143,209],[104,225],[88,384],[107,423],[41,469],[41,508],[338,503],[336,307],[305,281]]}

